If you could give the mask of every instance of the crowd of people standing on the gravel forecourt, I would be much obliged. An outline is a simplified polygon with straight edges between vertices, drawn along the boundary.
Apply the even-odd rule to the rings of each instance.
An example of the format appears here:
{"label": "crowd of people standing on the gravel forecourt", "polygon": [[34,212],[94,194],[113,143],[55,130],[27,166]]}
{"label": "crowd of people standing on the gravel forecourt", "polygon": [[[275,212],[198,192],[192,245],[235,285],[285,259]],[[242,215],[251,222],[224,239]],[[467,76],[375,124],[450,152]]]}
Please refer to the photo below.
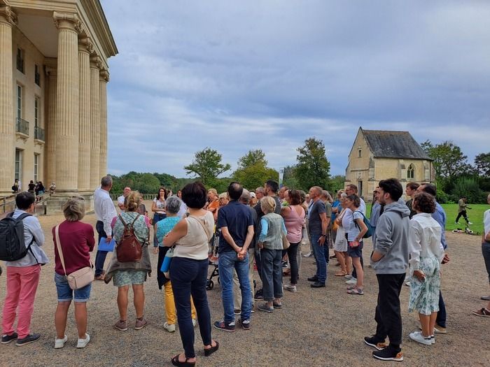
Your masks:
{"label": "crowd of people standing on the gravel forecourt", "polygon": [[[112,178],[108,175],[94,192],[97,243],[93,227],[81,222],[85,215],[82,197],[66,201],[65,220],[52,229],[58,301],[55,348],[62,348],[66,343],[66,319],[72,301],[78,329],[77,347],[83,348],[90,342],[86,303],[92,283],[73,289],[68,275],[92,267],[90,252],[96,245],[94,280],[106,283],[112,280],[118,288],[119,319],[113,327],[119,331],[127,331],[130,324],[136,330],[148,324],[144,282],[152,272],[153,247],[153,254],[158,255],[158,287],[163,289],[165,304],[163,327],[173,333],[176,324],[179,326],[184,350],[172,358],[174,366],[195,365],[195,326],[199,325],[204,355],[208,357],[219,348],[219,343],[211,338],[212,327],[227,332],[234,332],[237,326],[250,330],[253,312],[271,313],[281,309],[283,289],[299,290],[302,245],[309,245],[311,251],[304,257],[314,257],[316,264],[314,275],[307,278],[311,288],[325,287],[327,266],[330,260],[336,260],[339,271],[335,277],[346,282],[347,294],[363,296],[364,240],[372,237],[369,266],[376,273],[379,286],[374,311],[377,329],[364,341],[374,347],[374,358],[403,359],[400,291],[404,283],[410,287],[409,312],[418,312],[420,319],[420,330],[409,333],[409,338],[433,345],[435,333],[447,332],[447,314],[440,291],[440,269],[449,261],[444,235],[446,216],[435,200],[436,190],[431,184],[409,182],[405,187],[409,200],[405,202],[404,189],[397,179],[381,180],[373,192],[370,220],[356,185],[347,185],[336,192],[334,200],[322,187],[311,187],[305,193],[288,187],[279,189],[274,180],[268,180],[254,192],[244,189],[239,182],[231,182],[222,194],[193,182],[176,195],[165,187],[160,188],[152,203],[151,218],[142,196],[130,187],[125,187],[117,200],[118,214],[109,194],[111,188]],[[31,215],[36,201],[34,194],[20,192],[15,199],[17,209],[13,218],[20,218],[24,224],[29,252],[22,259],[6,263],[7,294],[1,343],[17,340],[16,345],[22,346],[40,338],[38,333],[30,331],[29,325],[41,264],[49,260],[42,247],[45,238],[41,225]],[[461,215],[468,221],[465,213]],[[137,244],[139,251],[129,259],[128,247],[123,245],[128,241]],[[113,255],[105,266],[109,251],[102,245],[111,243],[115,243]],[[490,210],[484,215],[482,253],[490,283]],[[223,318],[216,322],[211,321],[207,301],[208,266],[213,255],[218,258],[223,302]],[[162,266],[166,257],[172,260],[169,271]],[[254,280],[254,266],[262,289],[258,289],[258,279]],[[286,279],[287,284],[283,284]],[[130,288],[136,313],[134,324],[127,317]],[[482,299],[490,301],[490,296]],[[473,314],[489,317],[490,302]],[[15,317],[18,318],[16,329]]]}

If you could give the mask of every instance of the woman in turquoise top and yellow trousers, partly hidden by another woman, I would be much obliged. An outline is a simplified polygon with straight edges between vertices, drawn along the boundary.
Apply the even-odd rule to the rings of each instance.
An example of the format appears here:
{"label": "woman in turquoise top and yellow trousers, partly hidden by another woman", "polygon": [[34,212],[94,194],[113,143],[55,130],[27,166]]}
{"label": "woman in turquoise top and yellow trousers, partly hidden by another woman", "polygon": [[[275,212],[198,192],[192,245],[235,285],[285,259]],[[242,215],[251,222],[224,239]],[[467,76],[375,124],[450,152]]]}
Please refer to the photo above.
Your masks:
{"label": "woman in turquoise top and yellow trousers, partly hidden by another woman", "polygon": [[[169,247],[165,247],[163,245],[163,238],[172,231],[174,226],[181,220],[181,217],[177,215],[179,213],[179,209],[181,208],[181,199],[177,196],[170,196],[165,203],[165,212],[167,213],[167,217],[165,220],[160,220],[157,223],[157,240],[158,247],[153,247],[153,253],[158,254],[158,265],[157,265],[157,280],[158,280],[158,288],[162,289],[164,287],[164,301],[165,301],[165,314],[167,316],[167,322],[163,324],[163,328],[167,330],[169,333],[173,333],[175,331],[175,319],[176,319],[176,310],[175,310],[175,302],[174,302],[174,292],[172,292],[172,283],[165,276],[160,268],[162,268],[163,259],[165,258],[165,254],[169,250]],[[194,307],[194,303],[192,299],[190,300],[190,305],[192,307],[192,318],[193,325],[196,325],[196,310]]]}

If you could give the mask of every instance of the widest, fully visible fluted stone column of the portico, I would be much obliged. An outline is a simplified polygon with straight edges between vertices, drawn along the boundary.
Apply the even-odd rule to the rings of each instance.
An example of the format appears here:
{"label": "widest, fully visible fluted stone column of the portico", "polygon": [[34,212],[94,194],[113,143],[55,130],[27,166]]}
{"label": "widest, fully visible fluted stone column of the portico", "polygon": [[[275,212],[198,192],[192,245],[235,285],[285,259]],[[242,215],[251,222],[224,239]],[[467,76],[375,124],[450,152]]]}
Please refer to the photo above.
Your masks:
{"label": "widest, fully visible fluted stone column of the portico", "polygon": [[78,31],[80,21],[74,13],[54,12],[58,29],[58,67],[56,90],[56,189],[78,191]]}

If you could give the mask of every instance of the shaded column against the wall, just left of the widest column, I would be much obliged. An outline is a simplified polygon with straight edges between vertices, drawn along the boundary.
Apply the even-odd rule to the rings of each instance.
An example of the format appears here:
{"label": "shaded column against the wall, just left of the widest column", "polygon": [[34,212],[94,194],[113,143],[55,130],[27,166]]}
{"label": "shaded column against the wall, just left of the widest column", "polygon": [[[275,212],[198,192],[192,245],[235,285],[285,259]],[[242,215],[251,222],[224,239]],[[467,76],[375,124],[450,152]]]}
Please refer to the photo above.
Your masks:
{"label": "shaded column against the wall, just left of the widest column", "polygon": [[45,143],[46,187],[49,187],[51,182],[56,182],[56,70],[56,65],[45,66],[45,72],[48,75],[48,122],[46,124]]}

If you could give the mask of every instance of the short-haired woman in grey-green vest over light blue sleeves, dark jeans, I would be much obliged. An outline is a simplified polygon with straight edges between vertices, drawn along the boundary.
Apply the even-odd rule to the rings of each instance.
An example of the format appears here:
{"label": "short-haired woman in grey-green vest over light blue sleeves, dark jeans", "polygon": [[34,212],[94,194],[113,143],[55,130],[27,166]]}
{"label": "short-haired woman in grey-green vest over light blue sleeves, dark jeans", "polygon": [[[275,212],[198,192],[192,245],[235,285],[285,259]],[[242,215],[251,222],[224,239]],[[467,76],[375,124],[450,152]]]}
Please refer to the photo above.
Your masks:
{"label": "short-haired woman in grey-green vest over light blue sleeves, dark jeans", "polygon": [[258,305],[258,310],[272,312],[282,307],[282,237],[288,232],[281,215],[274,213],[276,202],[271,196],[262,198],[260,208],[265,214],[260,218],[262,229],[258,238],[265,303]]}

